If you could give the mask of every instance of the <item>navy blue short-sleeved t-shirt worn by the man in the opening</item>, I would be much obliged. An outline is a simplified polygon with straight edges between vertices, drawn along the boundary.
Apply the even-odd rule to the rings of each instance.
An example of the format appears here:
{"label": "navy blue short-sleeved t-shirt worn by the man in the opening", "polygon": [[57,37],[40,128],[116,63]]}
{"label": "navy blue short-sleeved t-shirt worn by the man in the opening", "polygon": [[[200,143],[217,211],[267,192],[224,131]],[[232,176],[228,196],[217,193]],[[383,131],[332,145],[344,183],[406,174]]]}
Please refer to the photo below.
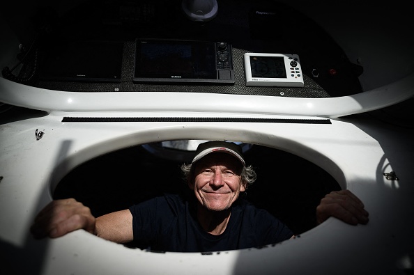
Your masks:
{"label": "navy blue short-sleeved t-shirt worn by the man in the opening", "polygon": [[275,244],[293,233],[266,210],[239,199],[231,206],[231,216],[221,235],[201,228],[195,214],[195,200],[165,194],[130,207],[134,241],[151,250],[207,252],[246,249]]}

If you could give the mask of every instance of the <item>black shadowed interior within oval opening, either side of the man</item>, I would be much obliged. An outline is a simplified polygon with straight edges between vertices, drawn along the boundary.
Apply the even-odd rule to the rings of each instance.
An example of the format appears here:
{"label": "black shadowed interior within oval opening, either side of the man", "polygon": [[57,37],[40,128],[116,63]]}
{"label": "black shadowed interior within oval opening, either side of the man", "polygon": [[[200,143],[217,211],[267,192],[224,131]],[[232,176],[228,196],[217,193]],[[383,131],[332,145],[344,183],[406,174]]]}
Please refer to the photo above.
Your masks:
{"label": "black shadowed interior within oval opening, either side of the man", "polygon": [[[284,221],[296,235],[316,226],[321,198],[340,189],[319,166],[281,150],[252,146],[245,159],[258,177],[243,196]],[[76,198],[99,217],[163,192],[188,192],[181,164],[155,157],[141,146],[118,150],[70,171],[57,185],[54,198]]]}

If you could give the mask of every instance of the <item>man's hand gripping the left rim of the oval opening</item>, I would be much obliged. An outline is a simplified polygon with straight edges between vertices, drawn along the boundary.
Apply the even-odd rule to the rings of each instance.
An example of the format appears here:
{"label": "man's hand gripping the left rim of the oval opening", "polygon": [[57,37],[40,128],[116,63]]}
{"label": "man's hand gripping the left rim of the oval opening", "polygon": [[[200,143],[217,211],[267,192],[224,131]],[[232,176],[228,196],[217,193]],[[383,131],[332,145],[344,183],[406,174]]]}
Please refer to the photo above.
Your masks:
{"label": "man's hand gripping the left rim of the oval opening", "polygon": [[95,234],[95,217],[89,207],[74,198],[52,201],[46,205],[30,228],[36,239],[61,237],[78,229]]}

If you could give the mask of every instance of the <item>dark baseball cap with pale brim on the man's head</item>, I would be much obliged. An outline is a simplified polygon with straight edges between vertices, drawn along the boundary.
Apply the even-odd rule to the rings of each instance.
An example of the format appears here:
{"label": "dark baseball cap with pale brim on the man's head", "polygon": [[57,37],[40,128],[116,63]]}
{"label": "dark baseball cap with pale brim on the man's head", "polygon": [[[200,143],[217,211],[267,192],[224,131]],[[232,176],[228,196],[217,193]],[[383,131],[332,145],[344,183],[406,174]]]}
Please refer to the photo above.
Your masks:
{"label": "dark baseball cap with pale brim on the man's head", "polygon": [[192,164],[199,161],[201,158],[212,152],[226,152],[229,155],[233,155],[245,166],[245,159],[243,158],[243,150],[236,143],[227,141],[207,141],[200,143],[196,150],[196,155],[192,159]]}

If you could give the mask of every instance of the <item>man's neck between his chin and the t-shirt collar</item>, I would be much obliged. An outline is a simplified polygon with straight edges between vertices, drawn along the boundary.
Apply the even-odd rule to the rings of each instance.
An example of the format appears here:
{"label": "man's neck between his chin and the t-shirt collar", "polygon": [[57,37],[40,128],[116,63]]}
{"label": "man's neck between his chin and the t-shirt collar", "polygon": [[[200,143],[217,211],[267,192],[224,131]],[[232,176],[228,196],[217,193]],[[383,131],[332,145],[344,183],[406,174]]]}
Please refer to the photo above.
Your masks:
{"label": "man's neck between his chin and the t-shirt collar", "polygon": [[210,211],[201,205],[197,205],[197,219],[201,227],[211,235],[220,235],[226,230],[230,214],[230,209]]}

